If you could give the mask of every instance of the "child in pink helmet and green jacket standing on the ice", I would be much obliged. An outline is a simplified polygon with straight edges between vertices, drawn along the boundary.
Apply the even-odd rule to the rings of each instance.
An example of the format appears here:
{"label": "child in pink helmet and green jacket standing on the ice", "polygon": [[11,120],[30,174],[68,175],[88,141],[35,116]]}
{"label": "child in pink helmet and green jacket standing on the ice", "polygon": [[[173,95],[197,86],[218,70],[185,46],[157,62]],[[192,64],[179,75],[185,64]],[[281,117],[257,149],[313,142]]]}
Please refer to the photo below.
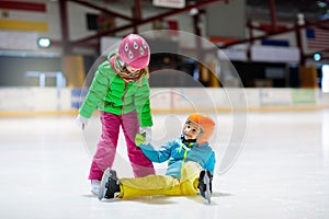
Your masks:
{"label": "child in pink helmet and green jacket standing on the ice", "polygon": [[102,135],[89,174],[91,192],[95,195],[103,172],[113,165],[120,127],[125,136],[134,175],[140,177],[155,174],[152,163],[134,142],[138,132],[144,134],[147,140],[151,135],[149,58],[147,42],[137,34],[127,35],[118,50],[110,53],[107,60],[99,66],[79,110],[77,123],[82,129],[97,106],[101,113]]}

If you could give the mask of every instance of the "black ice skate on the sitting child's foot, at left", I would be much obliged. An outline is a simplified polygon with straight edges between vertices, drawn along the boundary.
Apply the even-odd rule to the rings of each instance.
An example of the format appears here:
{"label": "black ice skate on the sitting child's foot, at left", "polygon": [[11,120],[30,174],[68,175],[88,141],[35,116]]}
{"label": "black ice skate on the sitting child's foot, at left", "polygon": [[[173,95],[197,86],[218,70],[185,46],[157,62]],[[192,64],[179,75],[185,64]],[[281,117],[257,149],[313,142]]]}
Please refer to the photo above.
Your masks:
{"label": "black ice skate on the sitting child's foot, at left", "polygon": [[120,193],[120,184],[118,178],[116,176],[116,172],[114,170],[110,170],[109,168],[105,170],[99,192],[99,199],[111,199],[115,198]]}

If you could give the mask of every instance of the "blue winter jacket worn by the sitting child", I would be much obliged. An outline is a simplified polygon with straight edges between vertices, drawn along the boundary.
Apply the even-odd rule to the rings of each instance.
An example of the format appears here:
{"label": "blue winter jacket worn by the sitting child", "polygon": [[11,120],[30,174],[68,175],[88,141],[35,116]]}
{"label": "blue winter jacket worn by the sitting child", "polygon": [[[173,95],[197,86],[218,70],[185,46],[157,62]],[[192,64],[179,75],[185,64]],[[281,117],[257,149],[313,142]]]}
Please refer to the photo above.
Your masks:
{"label": "blue winter jacket worn by the sitting child", "polygon": [[181,177],[181,169],[188,161],[198,163],[203,169],[208,170],[214,174],[215,169],[215,152],[209,147],[208,142],[204,145],[183,143],[181,136],[177,140],[169,141],[156,150],[150,143],[140,145],[139,148],[144,154],[152,162],[161,163],[168,161],[166,175]]}

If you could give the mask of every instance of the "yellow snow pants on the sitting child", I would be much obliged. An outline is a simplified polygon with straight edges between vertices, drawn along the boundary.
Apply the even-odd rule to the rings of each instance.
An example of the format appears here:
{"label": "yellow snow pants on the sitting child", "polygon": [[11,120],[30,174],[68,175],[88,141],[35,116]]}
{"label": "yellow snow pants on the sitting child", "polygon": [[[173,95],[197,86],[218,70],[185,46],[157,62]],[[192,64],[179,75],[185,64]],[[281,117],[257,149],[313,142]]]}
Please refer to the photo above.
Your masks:
{"label": "yellow snow pants on the sitting child", "polygon": [[169,175],[120,178],[121,193],[117,197],[125,199],[154,195],[196,195],[201,171],[198,163],[190,161],[183,164],[180,180]]}

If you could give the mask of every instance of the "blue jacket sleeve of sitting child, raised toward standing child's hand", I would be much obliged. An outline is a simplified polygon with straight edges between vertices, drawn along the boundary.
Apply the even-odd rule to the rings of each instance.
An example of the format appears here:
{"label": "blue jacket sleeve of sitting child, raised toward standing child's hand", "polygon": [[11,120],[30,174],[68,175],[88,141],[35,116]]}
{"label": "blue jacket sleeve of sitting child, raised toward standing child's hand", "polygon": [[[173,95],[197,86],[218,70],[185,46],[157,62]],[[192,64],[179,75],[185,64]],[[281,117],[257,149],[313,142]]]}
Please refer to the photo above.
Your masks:
{"label": "blue jacket sleeve of sitting child, raised toward standing child's hand", "polygon": [[171,155],[171,146],[172,142],[168,142],[162,147],[160,147],[159,150],[156,150],[150,143],[148,143],[148,145],[140,145],[139,148],[150,161],[162,163],[169,160]]}

